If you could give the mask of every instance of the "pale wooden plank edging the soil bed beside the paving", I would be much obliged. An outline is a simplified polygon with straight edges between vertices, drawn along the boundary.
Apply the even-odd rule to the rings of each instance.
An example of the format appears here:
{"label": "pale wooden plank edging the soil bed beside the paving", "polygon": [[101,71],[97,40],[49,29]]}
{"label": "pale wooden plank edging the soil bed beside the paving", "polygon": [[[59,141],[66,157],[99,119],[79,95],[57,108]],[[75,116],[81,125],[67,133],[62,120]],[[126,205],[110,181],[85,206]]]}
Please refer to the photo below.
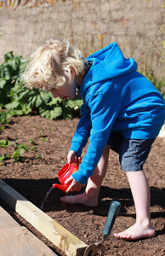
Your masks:
{"label": "pale wooden plank edging the soil bed beside the paving", "polygon": [[53,218],[50,218],[1,179],[0,198],[40,231],[43,236],[46,236],[49,241],[52,241],[56,247],[59,247],[66,255],[83,255],[85,248],[88,246],[87,244],[78,239],[77,236],[71,234],[68,230],[65,230]]}

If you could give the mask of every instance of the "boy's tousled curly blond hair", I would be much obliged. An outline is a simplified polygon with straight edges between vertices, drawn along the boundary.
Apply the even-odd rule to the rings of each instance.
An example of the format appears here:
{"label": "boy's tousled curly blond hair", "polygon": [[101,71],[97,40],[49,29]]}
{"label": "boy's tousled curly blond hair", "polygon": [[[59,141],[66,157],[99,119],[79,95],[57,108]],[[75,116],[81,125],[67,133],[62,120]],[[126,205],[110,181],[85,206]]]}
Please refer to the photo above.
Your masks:
{"label": "boy's tousled curly blond hair", "polygon": [[81,51],[68,40],[50,39],[30,56],[20,79],[30,89],[57,90],[65,83],[65,77],[71,81],[71,67],[79,75],[87,65]]}

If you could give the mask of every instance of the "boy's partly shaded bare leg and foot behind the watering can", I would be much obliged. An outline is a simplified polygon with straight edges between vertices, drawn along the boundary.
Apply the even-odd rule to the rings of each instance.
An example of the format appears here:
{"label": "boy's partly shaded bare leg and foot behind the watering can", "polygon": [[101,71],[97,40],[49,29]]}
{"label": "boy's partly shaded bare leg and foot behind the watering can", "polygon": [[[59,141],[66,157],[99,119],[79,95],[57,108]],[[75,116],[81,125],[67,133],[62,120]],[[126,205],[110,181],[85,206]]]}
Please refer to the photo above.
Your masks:
{"label": "boy's partly shaded bare leg and foot behind the watering can", "polygon": [[88,178],[87,187],[83,194],[67,195],[61,197],[60,201],[69,204],[82,204],[88,207],[96,207],[98,205],[100,186],[108,166],[109,149],[110,145],[107,144],[93,175]]}

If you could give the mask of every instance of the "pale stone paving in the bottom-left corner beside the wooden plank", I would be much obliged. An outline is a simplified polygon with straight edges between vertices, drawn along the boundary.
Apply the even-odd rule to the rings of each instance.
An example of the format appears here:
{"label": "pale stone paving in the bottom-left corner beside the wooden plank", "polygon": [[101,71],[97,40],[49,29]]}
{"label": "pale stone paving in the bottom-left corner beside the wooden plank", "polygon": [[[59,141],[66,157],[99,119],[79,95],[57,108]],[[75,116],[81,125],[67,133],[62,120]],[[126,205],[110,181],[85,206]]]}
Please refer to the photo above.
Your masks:
{"label": "pale stone paving in the bottom-left corner beside the wooden plank", "polygon": [[0,256],[55,256],[43,241],[0,207]]}

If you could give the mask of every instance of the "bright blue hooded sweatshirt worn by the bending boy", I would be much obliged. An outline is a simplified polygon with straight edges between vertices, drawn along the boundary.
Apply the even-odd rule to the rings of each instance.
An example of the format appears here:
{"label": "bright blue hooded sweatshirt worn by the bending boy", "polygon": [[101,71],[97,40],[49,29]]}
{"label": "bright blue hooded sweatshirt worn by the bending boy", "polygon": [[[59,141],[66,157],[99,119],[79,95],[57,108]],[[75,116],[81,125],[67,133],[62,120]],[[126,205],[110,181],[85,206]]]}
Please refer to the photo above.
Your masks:
{"label": "bright blue hooded sweatshirt worn by the bending boy", "polygon": [[72,138],[70,150],[81,155],[88,150],[72,176],[87,183],[97,166],[111,131],[123,137],[150,139],[164,124],[165,102],[156,87],[138,73],[134,59],[126,59],[117,43],[90,55],[93,64],[83,79],[82,117]]}

